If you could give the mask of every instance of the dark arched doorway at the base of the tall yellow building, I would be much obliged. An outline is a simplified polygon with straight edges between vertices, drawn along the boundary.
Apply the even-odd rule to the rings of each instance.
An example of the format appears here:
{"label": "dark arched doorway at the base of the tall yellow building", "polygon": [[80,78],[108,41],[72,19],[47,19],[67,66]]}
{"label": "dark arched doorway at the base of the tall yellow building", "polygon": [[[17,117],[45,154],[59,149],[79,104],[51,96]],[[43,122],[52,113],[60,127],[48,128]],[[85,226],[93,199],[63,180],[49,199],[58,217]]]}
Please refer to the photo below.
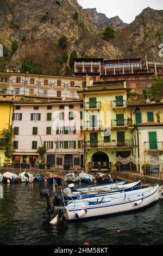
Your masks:
{"label": "dark arched doorway at the base of the tall yellow building", "polygon": [[92,155],[93,168],[109,169],[109,157],[103,152],[96,152]]}

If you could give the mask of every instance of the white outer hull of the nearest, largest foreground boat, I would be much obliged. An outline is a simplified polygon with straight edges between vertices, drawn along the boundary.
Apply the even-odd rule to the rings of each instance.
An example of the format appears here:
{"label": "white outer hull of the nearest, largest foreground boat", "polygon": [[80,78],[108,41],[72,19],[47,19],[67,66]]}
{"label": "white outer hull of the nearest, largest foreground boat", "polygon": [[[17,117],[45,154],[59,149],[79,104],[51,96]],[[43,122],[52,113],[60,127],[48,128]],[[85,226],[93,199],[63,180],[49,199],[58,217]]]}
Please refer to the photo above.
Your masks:
{"label": "white outer hull of the nearest, largest foreground boat", "polygon": [[[125,193],[124,193],[125,195]],[[138,204],[142,199],[142,202]],[[139,198],[127,198],[118,202],[110,202],[96,205],[85,205],[79,208],[64,208],[64,216],[67,220],[77,220],[76,214],[79,214],[81,210],[85,210],[86,214],[79,218],[79,220],[84,220],[85,218],[98,217],[104,215],[118,214],[121,212],[134,211],[137,209],[144,208],[149,204],[152,204],[159,200],[159,187],[155,187],[155,190],[147,196],[141,196]],[[137,203],[137,205],[135,205]]]}

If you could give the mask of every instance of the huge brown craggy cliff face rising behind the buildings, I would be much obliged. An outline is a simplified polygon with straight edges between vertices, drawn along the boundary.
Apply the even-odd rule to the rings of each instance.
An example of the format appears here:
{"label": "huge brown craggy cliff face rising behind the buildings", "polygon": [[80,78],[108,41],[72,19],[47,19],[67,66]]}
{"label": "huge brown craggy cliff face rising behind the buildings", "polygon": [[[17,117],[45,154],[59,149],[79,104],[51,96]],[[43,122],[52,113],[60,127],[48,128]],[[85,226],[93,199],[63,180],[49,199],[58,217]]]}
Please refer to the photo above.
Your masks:
{"label": "huge brown craggy cliff face rising behind the buildings", "polygon": [[[76,12],[78,20],[73,18]],[[129,54],[129,57],[159,60],[163,11],[147,8],[130,25],[122,22],[124,27],[121,29],[118,29],[121,24],[118,17],[109,19],[113,22],[109,25],[118,29],[116,39],[110,42],[99,34],[100,26],[108,22],[108,18],[102,14],[98,16],[96,9],[93,11],[95,16],[88,15],[89,12],[80,7],[77,0],[1,0],[0,43],[10,52],[12,42],[18,42],[8,67],[18,69],[22,60],[28,58],[41,64],[44,74],[57,74],[57,69],[58,74],[63,74],[66,65],[58,66],[63,52],[58,45],[61,35],[67,36],[65,50],[69,55],[76,50],[78,57],[87,54],[89,57],[117,59]],[[24,36],[26,40],[22,41]]]}

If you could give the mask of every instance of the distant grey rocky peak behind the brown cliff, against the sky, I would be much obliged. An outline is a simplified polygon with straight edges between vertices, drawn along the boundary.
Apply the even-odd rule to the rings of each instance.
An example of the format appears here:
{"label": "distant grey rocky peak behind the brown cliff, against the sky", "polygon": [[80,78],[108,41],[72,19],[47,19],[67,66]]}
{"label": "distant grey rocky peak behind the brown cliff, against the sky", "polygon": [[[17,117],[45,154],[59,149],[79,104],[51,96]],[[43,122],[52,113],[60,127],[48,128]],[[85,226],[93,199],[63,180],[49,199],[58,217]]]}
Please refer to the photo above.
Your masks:
{"label": "distant grey rocky peak behind the brown cliff, against the sky", "polygon": [[84,9],[84,11],[92,18],[99,30],[103,30],[106,26],[111,26],[116,29],[122,29],[127,26],[127,23],[124,23],[120,17],[115,16],[109,19],[105,14],[97,13],[96,8]]}

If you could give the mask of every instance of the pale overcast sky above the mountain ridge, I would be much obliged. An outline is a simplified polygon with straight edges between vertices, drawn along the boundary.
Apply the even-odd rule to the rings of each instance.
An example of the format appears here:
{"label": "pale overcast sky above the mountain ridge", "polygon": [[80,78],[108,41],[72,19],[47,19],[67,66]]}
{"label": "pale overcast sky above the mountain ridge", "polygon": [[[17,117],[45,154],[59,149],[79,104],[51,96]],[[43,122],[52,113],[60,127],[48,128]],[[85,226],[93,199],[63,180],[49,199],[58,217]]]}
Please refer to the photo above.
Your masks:
{"label": "pale overcast sky above the mountain ridge", "polygon": [[98,13],[103,13],[108,18],[119,16],[126,23],[131,23],[147,7],[163,10],[163,0],[77,0],[77,2],[83,8],[97,8]]}

